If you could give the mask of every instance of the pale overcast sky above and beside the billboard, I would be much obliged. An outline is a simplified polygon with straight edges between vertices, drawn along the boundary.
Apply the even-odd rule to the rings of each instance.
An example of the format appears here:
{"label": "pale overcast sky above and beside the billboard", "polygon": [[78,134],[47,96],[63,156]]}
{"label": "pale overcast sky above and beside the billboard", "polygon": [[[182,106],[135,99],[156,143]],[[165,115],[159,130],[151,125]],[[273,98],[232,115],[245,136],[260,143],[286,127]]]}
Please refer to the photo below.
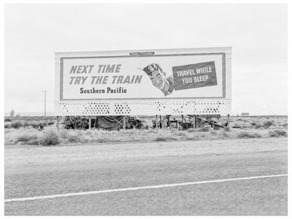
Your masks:
{"label": "pale overcast sky above and beside the billboard", "polygon": [[54,52],[232,46],[232,114],[287,114],[286,4],[6,4],[5,112],[54,110]]}

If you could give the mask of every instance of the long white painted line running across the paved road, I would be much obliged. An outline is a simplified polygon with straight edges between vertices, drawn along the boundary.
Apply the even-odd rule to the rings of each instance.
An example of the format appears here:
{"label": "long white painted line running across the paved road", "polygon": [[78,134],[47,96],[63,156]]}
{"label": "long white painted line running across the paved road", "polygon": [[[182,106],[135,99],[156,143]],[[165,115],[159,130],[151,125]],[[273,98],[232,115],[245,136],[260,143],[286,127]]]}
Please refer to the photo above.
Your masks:
{"label": "long white painted line running across the paved road", "polygon": [[36,199],[55,199],[55,198],[59,198],[59,197],[72,197],[72,196],[77,196],[77,195],[100,194],[100,193],[107,193],[107,192],[125,192],[125,191],[134,191],[134,190],[159,189],[159,188],[164,188],[164,187],[176,187],[176,186],[183,186],[183,185],[198,185],[198,184],[205,184],[205,183],[223,183],[223,182],[229,182],[229,181],[253,180],[253,179],[261,179],[261,178],[274,178],[274,177],[281,177],[281,176],[288,176],[288,174],[259,175],[259,176],[251,176],[251,177],[246,177],[246,178],[233,178],[233,179],[223,179],[223,180],[206,180],[206,181],[190,182],[190,183],[174,183],[174,184],[150,185],[150,186],[142,186],[142,187],[129,187],[129,188],[114,189],[114,190],[100,190],[100,191],[91,191],[91,192],[76,192],[76,193],[67,193],[67,194],[52,194],[52,195],[44,195],[44,196],[41,196],[41,197],[26,197],[26,198],[18,198],[18,199],[4,199],[4,203],[11,202],[11,201],[31,201],[31,200],[36,200]]}

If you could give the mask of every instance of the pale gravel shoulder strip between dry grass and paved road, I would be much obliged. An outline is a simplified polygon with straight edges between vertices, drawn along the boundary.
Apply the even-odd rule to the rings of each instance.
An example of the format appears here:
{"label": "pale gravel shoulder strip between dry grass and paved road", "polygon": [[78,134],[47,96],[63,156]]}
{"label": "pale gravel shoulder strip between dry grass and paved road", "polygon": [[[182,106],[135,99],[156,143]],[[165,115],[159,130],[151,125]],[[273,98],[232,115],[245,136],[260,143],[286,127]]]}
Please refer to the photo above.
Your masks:
{"label": "pale gravel shoulder strip between dry grass and paved road", "polygon": [[91,164],[150,157],[204,156],[286,151],[288,138],[198,140],[119,145],[77,145],[71,147],[27,147],[5,149],[5,168],[39,165]]}

